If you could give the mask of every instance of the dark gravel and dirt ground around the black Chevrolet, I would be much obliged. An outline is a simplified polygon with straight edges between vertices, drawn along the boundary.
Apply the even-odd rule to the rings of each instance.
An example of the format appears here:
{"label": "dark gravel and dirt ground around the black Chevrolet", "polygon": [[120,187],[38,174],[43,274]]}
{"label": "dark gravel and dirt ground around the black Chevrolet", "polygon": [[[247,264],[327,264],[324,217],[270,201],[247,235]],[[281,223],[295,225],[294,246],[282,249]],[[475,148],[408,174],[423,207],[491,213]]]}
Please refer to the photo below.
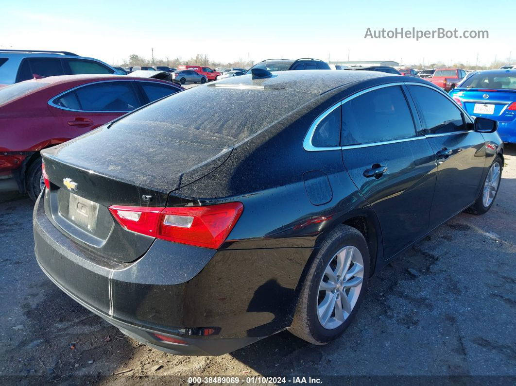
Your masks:
{"label": "dark gravel and dirt ground around the black Chevrolet", "polygon": [[0,379],[516,376],[516,146],[506,146],[500,189],[489,213],[456,216],[376,275],[357,320],[336,342],[313,346],[284,331],[220,357],[148,348],[76,304],[36,263],[33,204],[11,196],[0,203]]}

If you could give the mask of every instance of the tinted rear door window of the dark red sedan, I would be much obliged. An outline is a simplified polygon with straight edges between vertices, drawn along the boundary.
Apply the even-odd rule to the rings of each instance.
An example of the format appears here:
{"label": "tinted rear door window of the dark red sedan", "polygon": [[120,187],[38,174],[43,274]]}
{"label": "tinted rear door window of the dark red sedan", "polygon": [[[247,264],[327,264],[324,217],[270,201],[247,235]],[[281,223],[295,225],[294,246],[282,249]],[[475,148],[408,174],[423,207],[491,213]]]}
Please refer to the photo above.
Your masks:
{"label": "tinted rear door window of the dark red sedan", "polygon": [[131,111],[140,106],[132,82],[94,83],[75,92],[83,111]]}

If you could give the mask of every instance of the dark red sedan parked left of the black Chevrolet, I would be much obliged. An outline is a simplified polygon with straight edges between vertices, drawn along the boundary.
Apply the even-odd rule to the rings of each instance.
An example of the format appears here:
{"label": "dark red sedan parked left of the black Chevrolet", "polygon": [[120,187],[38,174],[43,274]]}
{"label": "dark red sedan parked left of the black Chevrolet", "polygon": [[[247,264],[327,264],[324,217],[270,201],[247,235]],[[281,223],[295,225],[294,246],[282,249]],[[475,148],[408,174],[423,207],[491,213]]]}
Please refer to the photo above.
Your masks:
{"label": "dark red sedan parked left of the black Chevrolet", "polygon": [[0,88],[0,191],[13,185],[12,177],[20,192],[36,200],[44,187],[41,149],[181,90],[165,80],[91,74]]}

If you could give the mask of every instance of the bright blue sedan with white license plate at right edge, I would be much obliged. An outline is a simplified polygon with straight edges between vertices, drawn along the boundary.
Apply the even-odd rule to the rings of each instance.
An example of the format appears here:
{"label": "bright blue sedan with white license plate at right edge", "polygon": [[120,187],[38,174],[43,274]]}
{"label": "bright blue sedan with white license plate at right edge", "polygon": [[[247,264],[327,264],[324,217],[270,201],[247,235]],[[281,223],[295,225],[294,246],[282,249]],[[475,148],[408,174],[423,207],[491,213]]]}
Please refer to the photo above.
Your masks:
{"label": "bright blue sedan with white license plate at right edge", "polygon": [[516,70],[479,71],[449,95],[473,118],[498,121],[498,135],[516,143]]}

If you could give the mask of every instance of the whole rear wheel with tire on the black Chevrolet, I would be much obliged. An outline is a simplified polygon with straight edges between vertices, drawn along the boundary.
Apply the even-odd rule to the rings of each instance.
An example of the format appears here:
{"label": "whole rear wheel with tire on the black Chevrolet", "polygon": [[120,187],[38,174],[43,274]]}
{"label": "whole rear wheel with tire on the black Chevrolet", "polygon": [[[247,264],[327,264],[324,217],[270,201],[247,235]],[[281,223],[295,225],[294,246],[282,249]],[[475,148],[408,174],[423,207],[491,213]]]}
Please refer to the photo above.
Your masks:
{"label": "whole rear wheel with tire on the black Chevrolet", "polygon": [[[340,264],[342,271],[338,270]],[[334,276],[337,271],[342,275]],[[288,330],[317,345],[336,339],[356,316],[368,278],[369,249],[362,233],[347,225],[338,226],[328,234],[310,263]]]}

